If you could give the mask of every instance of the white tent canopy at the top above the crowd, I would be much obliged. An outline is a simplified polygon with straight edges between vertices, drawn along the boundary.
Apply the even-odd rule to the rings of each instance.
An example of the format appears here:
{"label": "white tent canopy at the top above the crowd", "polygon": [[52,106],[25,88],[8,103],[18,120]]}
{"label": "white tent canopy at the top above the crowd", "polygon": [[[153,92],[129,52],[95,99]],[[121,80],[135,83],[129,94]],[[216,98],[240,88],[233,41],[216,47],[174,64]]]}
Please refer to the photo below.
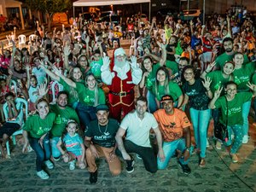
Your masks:
{"label": "white tent canopy at the top above the crowd", "polygon": [[115,4],[150,3],[150,0],[79,0],[73,3],[74,7],[104,6]]}

